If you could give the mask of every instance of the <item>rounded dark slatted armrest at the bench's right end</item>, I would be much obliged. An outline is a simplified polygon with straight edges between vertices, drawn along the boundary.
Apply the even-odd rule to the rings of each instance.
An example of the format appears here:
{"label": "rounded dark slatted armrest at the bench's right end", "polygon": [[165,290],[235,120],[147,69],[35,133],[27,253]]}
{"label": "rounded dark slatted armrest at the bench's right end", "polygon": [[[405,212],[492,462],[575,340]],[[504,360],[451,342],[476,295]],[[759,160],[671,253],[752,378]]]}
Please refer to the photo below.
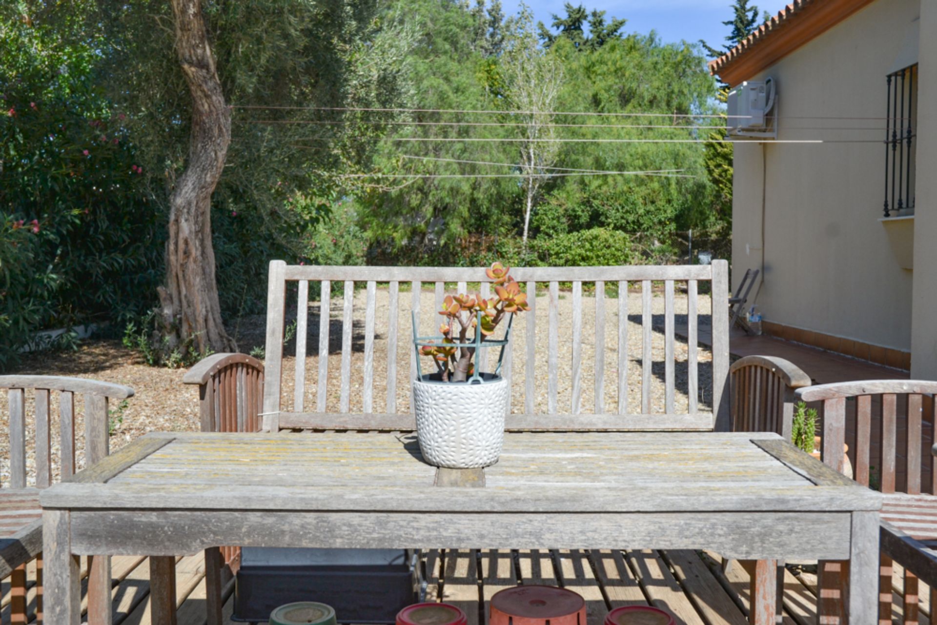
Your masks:
{"label": "rounded dark slatted armrest at the bench's right end", "polygon": [[729,367],[733,432],[776,432],[791,439],[794,392],[811,385],[810,376],[789,360],[745,356]]}

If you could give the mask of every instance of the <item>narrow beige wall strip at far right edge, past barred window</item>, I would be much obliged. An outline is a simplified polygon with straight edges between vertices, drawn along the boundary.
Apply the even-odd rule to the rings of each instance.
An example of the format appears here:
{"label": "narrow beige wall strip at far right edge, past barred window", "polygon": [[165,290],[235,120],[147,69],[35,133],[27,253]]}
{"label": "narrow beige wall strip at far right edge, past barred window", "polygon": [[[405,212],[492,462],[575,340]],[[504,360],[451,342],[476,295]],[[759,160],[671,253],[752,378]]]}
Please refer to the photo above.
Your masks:
{"label": "narrow beige wall strip at far right edge, past barred window", "polygon": [[937,379],[937,0],[923,0],[917,101],[917,206],[911,376]]}

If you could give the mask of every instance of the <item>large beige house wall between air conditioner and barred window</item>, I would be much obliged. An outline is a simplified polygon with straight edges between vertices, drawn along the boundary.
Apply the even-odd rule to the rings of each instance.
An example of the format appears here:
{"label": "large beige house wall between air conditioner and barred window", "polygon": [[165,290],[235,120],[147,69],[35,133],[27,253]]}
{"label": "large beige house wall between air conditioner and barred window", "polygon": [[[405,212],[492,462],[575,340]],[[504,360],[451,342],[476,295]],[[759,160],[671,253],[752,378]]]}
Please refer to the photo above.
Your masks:
{"label": "large beige house wall between air conditioner and barred window", "polygon": [[[918,12],[918,0],[878,0],[752,77],[776,81],[779,139],[881,141],[881,119],[842,118],[885,117],[885,76]],[[881,142],[736,144],[733,280],[764,252],[766,320],[910,350],[913,275],[879,221],[884,159]]]}

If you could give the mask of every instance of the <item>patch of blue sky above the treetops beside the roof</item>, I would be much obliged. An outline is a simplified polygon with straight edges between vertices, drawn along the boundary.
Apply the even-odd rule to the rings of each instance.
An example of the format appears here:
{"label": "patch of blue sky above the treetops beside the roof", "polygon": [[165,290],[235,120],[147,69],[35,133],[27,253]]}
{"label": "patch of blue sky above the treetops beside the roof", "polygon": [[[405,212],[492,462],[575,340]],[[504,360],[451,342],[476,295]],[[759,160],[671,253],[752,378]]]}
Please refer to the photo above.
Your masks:
{"label": "patch of blue sky above the treetops beside the roof", "polygon": [[[573,5],[583,4],[588,10],[605,10],[605,17],[626,18],[625,32],[647,34],[656,30],[664,41],[706,39],[709,45],[721,48],[730,28],[721,22],[731,16],[729,5],[732,0],[572,0]],[[502,0],[504,12],[516,12],[517,0]],[[551,13],[563,12],[563,0],[528,0],[534,17],[549,25]],[[784,6],[783,0],[755,0],[759,19],[765,10],[777,13]]]}

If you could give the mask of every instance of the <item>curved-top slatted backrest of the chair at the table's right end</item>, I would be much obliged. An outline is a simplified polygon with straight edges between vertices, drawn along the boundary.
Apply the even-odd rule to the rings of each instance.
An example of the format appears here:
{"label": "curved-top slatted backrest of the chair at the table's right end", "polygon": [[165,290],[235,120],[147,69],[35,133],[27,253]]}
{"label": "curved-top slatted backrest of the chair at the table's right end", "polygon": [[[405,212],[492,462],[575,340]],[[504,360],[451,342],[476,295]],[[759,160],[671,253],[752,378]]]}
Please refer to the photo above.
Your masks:
{"label": "curved-top slatted backrest of the chair at the table's right end", "polygon": [[866,379],[796,391],[798,399],[823,402],[825,464],[842,471],[847,443],[856,482],[868,486],[876,479],[872,485],[883,493],[911,495],[937,495],[937,457],[929,453],[937,442],[934,394],[937,381],[916,379]]}

